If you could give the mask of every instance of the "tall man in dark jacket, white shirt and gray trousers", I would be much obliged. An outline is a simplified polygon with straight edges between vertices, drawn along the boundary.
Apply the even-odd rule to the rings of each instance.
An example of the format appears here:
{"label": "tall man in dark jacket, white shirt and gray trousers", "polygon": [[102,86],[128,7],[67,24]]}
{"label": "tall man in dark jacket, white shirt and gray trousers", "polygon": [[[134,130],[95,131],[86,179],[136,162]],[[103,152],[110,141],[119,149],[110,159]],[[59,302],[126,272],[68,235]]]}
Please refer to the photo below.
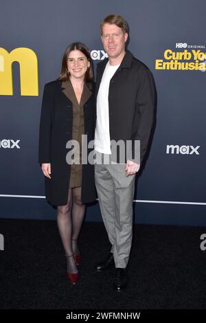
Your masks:
{"label": "tall man in dark jacket, white shirt and gray trousers", "polygon": [[[100,28],[108,58],[97,68],[95,152],[96,159],[103,162],[95,164],[95,183],[112,247],[96,269],[104,271],[115,265],[113,285],[119,291],[128,282],[126,265],[133,233],[135,175],[148,148],[155,91],[149,69],[125,49],[128,40],[125,19],[111,14]],[[123,163],[121,153],[117,153],[112,144],[119,140],[125,146],[130,143],[130,148],[124,149],[127,153]],[[140,154],[136,145],[139,141]]]}

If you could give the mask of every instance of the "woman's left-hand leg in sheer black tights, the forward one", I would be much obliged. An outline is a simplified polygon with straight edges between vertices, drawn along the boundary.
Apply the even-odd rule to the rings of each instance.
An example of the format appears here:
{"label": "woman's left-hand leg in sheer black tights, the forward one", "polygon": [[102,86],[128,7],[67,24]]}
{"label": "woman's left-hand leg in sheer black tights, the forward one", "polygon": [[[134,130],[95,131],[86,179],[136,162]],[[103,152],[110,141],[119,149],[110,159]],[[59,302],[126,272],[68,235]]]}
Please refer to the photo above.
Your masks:
{"label": "woman's left-hand leg in sheer black tights, the forward one", "polygon": [[[72,236],[72,221],[71,221],[71,209],[72,209],[72,189],[69,188],[67,205],[58,206],[57,210],[57,224],[62,240],[62,245],[65,249],[67,258],[67,272],[69,274],[75,274],[78,272],[73,254],[71,236]],[[70,257],[71,256],[71,257]]]}

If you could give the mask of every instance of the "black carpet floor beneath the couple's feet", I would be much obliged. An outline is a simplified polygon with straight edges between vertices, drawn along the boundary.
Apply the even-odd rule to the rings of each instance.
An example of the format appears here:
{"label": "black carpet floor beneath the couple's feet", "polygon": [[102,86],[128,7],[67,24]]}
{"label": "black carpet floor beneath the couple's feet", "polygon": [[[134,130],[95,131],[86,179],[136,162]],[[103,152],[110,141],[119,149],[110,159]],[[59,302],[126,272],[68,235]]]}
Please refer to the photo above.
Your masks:
{"label": "black carpet floor beneath the couple's feet", "polygon": [[94,265],[110,245],[102,223],[84,223],[78,285],[69,285],[56,221],[0,219],[1,309],[205,309],[205,227],[135,225],[126,291]]}

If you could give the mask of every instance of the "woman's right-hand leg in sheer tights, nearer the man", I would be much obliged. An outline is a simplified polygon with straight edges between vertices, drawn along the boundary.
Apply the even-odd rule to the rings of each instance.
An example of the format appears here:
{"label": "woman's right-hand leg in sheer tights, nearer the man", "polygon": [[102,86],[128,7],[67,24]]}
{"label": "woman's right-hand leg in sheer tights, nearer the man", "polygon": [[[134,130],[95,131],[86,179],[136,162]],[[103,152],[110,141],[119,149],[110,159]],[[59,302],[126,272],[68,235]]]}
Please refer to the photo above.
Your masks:
{"label": "woman's right-hand leg in sheer tights, nearer the man", "polygon": [[73,221],[73,234],[72,234],[72,248],[75,254],[80,254],[78,249],[78,236],[82,227],[82,222],[85,213],[85,204],[82,204],[81,199],[82,188],[73,188],[73,208],[72,208],[72,221]]}

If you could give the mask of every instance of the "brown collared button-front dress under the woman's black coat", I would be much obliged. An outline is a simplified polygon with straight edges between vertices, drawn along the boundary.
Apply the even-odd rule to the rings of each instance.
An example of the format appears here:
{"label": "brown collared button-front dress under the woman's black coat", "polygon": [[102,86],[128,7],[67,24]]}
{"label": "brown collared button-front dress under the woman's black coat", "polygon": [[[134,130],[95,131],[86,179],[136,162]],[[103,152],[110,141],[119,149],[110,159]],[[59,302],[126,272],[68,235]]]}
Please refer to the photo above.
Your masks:
{"label": "brown collared button-front dress under the woman's black coat", "polygon": [[84,83],[80,104],[76,98],[71,81],[63,82],[65,87],[65,94],[72,102],[73,109],[73,126],[72,126],[72,140],[78,141],[80,144],[80,164],[71,164],[69,188],[77,188],[82,186],[82,135],[84,134],[84,104],[89,100],[91,91],[89,91],[90,84]]}

